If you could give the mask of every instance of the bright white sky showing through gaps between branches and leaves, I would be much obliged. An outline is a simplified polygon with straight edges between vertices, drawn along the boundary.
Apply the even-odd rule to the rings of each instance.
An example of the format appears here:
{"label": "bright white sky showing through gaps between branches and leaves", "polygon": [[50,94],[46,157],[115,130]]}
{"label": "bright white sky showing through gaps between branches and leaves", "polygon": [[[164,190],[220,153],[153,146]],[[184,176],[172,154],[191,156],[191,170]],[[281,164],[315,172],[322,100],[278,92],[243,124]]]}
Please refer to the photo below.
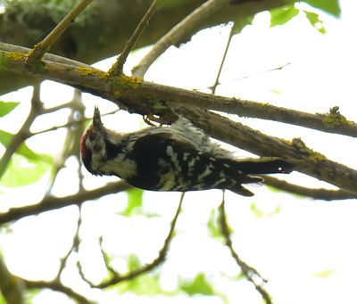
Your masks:
{"label": "bright white sky showing through gaps between branches and leaves", "polygon": [[[357,70],[357,21],[354,1],[341,0],[342,18],[323,15],[327,35],[322,36],[312,29],[303,16],[295,18],[284,27],[269,29],[269,14],[262,13],[238,37],[234,37],[229,49],[228,59],[223,70],[217,94],[234,95],[263,103],[273,103],[287,108],[311,112],[327,112],[339,105],[347,119],[357,121],[355,109],[356,91],[353,75]],[[148,29],[149,30],[149,29]],[[170,48],[149,70],[147,79],[167,84],[205,90],[212,86],[220,62],[228,29],[219,27],[207,29],[193,37],[192,42],[178,48]],[[129,66],[135,64],[145,50],[134,53]],[[107,69],[112,61],[98,65]],[[290,63],[283,70],[262,73]],[[130,67],[128,66],[128,70]],[[244,78],[233,81],[237,78]],[[56,93],[54,93],[56,92]],[[29,100],[30,89],[3,96],[3,100]],[[72,90],[61,85],[47,82],[42,92],[46,106],[71,99]],[[87,95],[87,115],[90,116],[94,105],[99,104],[101,111],[111,111],[112,104],[99,101]],[[14,115],[25,117],[27,104],[21,104]],[[48,116],[34,126],[34,130],[61,125],[66,122],[65,111]],[[136,129],[141,125],[141,118],[127,113],[116,114],[105,119],[107,126],[120,131]],[[18,117],[18,116],[17,116]],[[234,119],[234,117],[230,117]],[[2,119],[8,127],[9,120]],[[332,160],[343,162],[357,168],[355,151],[356,141],[346,136],[322,134],[318,131],[300,127],[275,124],[254,119],[240,119],[254,128],[262,128],[272,136],[302,137],[303,141],[314,150],[326,154]],[[20,124],[20,121],[19,121]],[[0,128],[3,128],[1,126]],[[20,126],[20,125],[19,125]],[[15,131],[19,126],[10,124]],[[31,147],[42,152],[61,151],[64,136],[62,131],[51,135],[51,139],[38,136],[30,141]],[[52,140],[54,139],[54,141]],[[49,142],[51,140],[51,142]],[[46,144],[44,143],[51,143]],[[340,147],[343,147],[341,149]],[[237,151],[237,155],[245,152]],[[73,177],[76,172],[74,160],[61,172],[54,193],[67,195],[77,190]],[[292,174],[289,180],[299,181],[302,185],[322,186],[310,177]],[[109,179],[86,175],[86,186],[94,187]],[[67,182],[67,183],[66,183]],[[46,181],[38,185],[41,193]],[[34,201],[36,190],[25,188],[4,189],[1,201],[22,204]],[[267,192],[264,187],[252,188],[256,195],[243,198],[227,193],[227,212],[230,225],[234,228],[234,243],[245,261],[257,268],[270,279],[268,291],[273,295],[274,303],[316,304],[316,303],[355,303],[355,273],[357,272],[357,207],[355,201],[323,202],[298,199],[286,193]],[[31,191],[31,193],[29,193]],[[27,196],[28,198],[24,197]],[[30,194],[30,195],[29,195]],[[170,257],[162,267],[162,286],[174,289],[177,275],[194,277],[198,272],[208,274],[215,288],[226,293],[232,303],[261,303],[259,295],[249,283],[232,282],[229,278],[238,274],[237,266],[229,258],[227,249],[217,240],[208,237],[206,223],[212,210],[216,210],[221,201],[219,191],[188,193],[184,210],[178,223],[178,235],[172,242]],[[83,259],[91,263],[88,276],[99,280],[104,275],[102,265],[95,267],[97,250],[94,250],[97,237],[106,236],[106,250],[120,255],[118,265],[130,252],[136,253],[142,261],[155,258],[157,249],[162,246],[163,235],[167,233],[168,223],[179,202],[178,193],[145,193],[145,210],[160,215],[162,218],[121,218],[118,213],[125,208],[126,196],[119,194],[109,198],[87,203],[81,237],[84,239]],[[257,219],[251,212],[255,203],[263,212],[281,211],[277,215]],[[3,205],[2,209],[8,204]],[[68,249],[69,240],[76,225],[77,211],[68,208],[56,212],[47,212],[37,218],[24,218],[12,225],[13,234],[0,235],[1,248],[10,269],[18,275],[33,279],[50,279],[56,271],[56,258],[62,257]],[[93,253],[95,252],[95,253]],[[119,253],[118,253],[119,252]],[[76,257],[72,257],[73,262]],[[319,274],[329,272],[328,277]],[[63,275],[63,282],[72,286],[78,284],[78,277],[71,271]],[[86,285],[79,288],[86,290]],[[87,292],[87,290],[86,290]],[[106,292],[104,298],[97,292],[92,294],[101,299],[101,303],[112,303],[116,292]],[[35,303],[56,303],[51,292],[43,292]],[[115,298],[116,299],[116,298]],[[133,295],[123,297],[126,303],[137,301]],[[198,297],[188,300],[180,296],[169,298],[173,302],[221,303],[219,298]],[[142,303],[167,302],[167,298],[144,298]],[[58,303],[67,301],[58,296]]]}

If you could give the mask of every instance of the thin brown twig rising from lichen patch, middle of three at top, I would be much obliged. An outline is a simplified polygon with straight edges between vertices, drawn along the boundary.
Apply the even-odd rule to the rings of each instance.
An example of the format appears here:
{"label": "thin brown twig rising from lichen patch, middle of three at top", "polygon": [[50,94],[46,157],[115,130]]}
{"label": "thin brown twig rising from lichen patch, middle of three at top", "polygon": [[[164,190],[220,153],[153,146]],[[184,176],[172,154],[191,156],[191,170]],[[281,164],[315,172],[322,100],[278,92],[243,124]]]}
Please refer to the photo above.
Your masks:
{"label": "thin brown twig rising from lichen patch, middle of three at top", "polygon": [[149,7],[143,19],[137,25],[137,29],[135,29],[133,35],[129,38],[129,41],[124,47],[124,50],[120,53],[117,61],[112,65],[111,70],[109,70],[110,76],[118,76],[122,74],[124,63],[127,61],[130,51],[137,44],[137,39],[140,37],[141,33],[147,27],[150,19],[153,17],[154,13],[159,9],[164,0],[154,0],[153,4]]}

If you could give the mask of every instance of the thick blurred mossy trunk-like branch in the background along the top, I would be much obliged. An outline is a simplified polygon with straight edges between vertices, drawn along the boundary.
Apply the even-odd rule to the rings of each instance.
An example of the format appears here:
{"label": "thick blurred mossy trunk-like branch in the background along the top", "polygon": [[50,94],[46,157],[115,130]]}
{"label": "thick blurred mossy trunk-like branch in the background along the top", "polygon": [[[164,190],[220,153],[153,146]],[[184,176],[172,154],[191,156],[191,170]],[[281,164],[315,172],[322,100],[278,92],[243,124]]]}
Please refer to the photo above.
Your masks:
{"label": "thick blurred mossy trunk-like branch in the background along the top", "polygon": [[[152,0],[96,0],[54,45],[53,53],[87,63],[98,62],[118,54],[118,50],[123,49],[127,43],[127,37],[135,29],[140,16],[144,15],[151,2]],[[143,33],[137,42],[137,47],[154,44],[189,12],[204,2],[205,0],[168,1],[168,5],[163,5],[160,14],[152,19],[150,31]],[[227,5],[225,9],[196,24],[195,29],[187,33],[187,37],[183,37],[179,43],[186,42],[199,29],[228,21],[242,21],[257,12],[292,2],[294,1],[263,0]],[[40,2],[35,4],[32,1],[9,2],[10,5],[6,7],[6,11],[0,14],[0,37],[3,41],[15,45],[32,46],[34,41],[46,36],[48,29],[54,28],[57,20],[62,18],[62,5],[67,7],[68,3],[68,1],[52,0],[49,1],[49,4],[52,4],[50,6]],[[48,12],[49,9],[52,11]],[[24,15],[26,18],[21,17]],[[17,35],[13,35],[14,32]],[[29,86],[32,80],[24,75],[0,71],[0,94],[21,86]]]}

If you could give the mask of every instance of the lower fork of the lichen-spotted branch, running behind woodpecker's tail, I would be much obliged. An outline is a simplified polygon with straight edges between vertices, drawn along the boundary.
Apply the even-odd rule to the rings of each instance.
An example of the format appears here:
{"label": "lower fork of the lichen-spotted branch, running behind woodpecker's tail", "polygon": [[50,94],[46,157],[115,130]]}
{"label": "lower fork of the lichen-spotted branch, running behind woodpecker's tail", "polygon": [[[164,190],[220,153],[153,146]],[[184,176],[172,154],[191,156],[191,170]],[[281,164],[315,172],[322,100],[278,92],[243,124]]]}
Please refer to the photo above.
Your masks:
{"label": "lower fork of the lichen-spotted branch, running behind woodpecker's tail", "polygon": [[278,156],[292,162],[295,170],[324,180],[351,193],[357,193],[357,171],[306,147],[300,139],[291,142],[233,122],[218,114],[177,107],[175,111],[193,121],[208,135],[261,156]]}

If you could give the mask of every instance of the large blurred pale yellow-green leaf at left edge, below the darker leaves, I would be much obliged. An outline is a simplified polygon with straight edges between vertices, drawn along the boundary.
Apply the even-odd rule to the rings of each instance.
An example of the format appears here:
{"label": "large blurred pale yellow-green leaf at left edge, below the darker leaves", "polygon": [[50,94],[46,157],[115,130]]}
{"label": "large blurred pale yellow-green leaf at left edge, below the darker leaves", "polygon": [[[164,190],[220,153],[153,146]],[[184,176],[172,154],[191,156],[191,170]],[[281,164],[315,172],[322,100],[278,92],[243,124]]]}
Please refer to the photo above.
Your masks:
{"label": "large blurred pale yellow-green leaf at left edge, below the darker leaves", "polygon": [[12,159],[1,178],[1,185],[16,187],[36,183],[51,168],[51,165],[42,160],[29,160],[18,154]]}

